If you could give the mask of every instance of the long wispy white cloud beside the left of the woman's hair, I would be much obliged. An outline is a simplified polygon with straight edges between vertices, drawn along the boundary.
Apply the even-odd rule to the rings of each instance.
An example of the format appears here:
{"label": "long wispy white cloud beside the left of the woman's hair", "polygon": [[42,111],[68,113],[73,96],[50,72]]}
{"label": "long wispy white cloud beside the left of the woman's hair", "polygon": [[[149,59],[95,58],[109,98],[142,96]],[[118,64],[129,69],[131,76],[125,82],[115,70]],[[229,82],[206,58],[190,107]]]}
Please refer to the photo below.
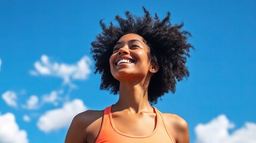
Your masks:
{"label": "long wispy white cloud beside the left of the woman's hair", "polygon": [[70,80],[85,80],[90,70],[91,60],[84,56],[76,64],[51,62],[47,55],[41,56],[41,61],[34,64],[35,70],[30,71],[33,76],[55,76],[63,79],[63,82],[70,83]]}

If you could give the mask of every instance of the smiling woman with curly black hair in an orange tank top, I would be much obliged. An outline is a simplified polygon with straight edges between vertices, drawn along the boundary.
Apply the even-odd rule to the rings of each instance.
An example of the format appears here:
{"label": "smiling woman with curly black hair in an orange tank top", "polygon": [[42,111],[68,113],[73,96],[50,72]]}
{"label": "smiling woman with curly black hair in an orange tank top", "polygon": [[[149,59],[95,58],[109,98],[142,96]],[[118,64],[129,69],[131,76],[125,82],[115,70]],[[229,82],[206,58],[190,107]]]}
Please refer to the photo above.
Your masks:
{"label": "smiling woman with curly black hair in an orange tank top", "polygon": [[176,81],[189,76],[190,33],[180,30],[183,24],[172,26],[170,13],[161,21],[143,10],[143,17],[117,15],[119,26],[100,21],[103,32],[92,42],[95,73],[102,74],[100,88],[119,94],[119,100],[105,110],[74,117],[66,143],[189,142],[185,120],[150,104],[174,93]]}

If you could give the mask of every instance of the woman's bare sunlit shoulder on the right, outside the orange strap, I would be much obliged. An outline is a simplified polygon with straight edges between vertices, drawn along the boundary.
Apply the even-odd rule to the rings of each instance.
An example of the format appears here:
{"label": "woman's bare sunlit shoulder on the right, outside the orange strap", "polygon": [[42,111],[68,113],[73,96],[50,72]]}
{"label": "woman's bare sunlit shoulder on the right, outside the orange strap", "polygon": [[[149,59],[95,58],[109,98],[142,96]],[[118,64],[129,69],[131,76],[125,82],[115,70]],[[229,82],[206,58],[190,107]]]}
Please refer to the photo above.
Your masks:
{"label": "woman's bare sunlit shoulder on the right, outside the orange strap", "polygon": [[189,143],[189,128],[186,120],[176,114],[163,113],[162,115],[166,129],[175,141]]}

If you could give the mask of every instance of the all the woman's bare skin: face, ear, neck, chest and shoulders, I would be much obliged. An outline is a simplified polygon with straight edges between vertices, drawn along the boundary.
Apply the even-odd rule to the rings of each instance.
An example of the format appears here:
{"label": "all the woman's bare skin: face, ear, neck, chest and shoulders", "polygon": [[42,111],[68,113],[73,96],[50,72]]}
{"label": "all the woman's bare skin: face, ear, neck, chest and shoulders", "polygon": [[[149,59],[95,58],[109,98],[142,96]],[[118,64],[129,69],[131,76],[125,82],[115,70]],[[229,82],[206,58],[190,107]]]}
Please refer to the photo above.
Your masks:
{"label": "all the woman's bare skin: face, ear, neck, chest and shoulders", "polygon": [[[119,100],[112,106],[113,122],[119,131],[128,135],[149,135],[156,126],[156,113],[149,104],[147,89],[159,66],[149,60],[149,52],[146,41],[140,35],[130,33],[119,39],[109,59],[111,73],[120,82]],[[118,62],[120,60],[123,62]],[[87,110],[78,114],[70,125],[65,142],[95,142],[103,112]],[[173,142],[189,142],[185,120],[169,113],[164,113],[163,119]]]}

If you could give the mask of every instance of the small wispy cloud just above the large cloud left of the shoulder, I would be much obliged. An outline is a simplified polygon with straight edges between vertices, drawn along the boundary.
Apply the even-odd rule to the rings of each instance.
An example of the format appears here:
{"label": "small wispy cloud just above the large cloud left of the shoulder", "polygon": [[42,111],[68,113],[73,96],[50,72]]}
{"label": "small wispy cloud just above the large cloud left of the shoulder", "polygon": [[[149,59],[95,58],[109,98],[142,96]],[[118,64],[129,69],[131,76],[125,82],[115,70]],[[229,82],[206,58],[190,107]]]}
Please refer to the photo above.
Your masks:
{"label": "small wispy cloud just above the large cloud left of the shoulder", "polygon": [[61,101],[61,98],[59,97],[60,94],[63,94],[63,91],[52,91],[50,94],[45,94],[42,97],[42,104],[48,102],[53,105],[58,105],[58,101]]}

